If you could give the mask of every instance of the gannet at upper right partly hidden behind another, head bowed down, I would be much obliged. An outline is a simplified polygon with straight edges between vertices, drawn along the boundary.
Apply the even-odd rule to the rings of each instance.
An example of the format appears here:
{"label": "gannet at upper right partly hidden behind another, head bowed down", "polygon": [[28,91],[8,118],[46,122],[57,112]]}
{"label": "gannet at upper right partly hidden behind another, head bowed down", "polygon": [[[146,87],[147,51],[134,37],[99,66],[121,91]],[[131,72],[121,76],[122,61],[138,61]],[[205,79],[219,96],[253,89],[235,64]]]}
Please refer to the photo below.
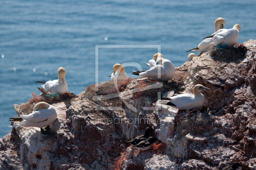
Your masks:
{"label": "gannet at upper right partly hidden behind another, head bowed down", "polygon": [[[225,19],[223,18],[217,18],[214,22],[214,33],[216,33],[218,30],[223,29],[226,24]],[[207,52],[210,51],[213,47],[213,40],[212,38],[206,38],[203,40],[198,47],[193,48],[189,51],[199,51],[199,52]],[[187,51],[187,52],[189,52]]]}

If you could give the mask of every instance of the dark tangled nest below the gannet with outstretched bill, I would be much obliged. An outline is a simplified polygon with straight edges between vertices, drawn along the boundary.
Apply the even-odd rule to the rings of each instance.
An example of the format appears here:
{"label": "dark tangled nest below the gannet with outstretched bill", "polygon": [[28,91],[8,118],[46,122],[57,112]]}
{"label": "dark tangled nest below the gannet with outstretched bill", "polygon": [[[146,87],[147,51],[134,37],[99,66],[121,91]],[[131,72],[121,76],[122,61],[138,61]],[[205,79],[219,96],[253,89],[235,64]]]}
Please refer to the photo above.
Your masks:
{"label": "dark tangled nest below the gannet with outstretched bill", "polygon": [[212,129],[213,120],[212,112],[205,106],[190,113],[179,110],[174,119],[175,134],[178,138],[182,138],[188,133],[193,135],[203,134]]}

